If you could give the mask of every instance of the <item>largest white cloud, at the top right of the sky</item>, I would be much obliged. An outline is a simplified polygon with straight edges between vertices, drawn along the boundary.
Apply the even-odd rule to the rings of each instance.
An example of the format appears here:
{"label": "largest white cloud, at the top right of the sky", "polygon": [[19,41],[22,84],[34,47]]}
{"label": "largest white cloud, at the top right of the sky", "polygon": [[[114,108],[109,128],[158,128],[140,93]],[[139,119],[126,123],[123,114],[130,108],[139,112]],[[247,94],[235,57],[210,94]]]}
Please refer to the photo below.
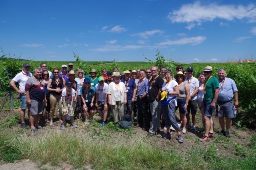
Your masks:
{"label": "largest white cloud, at the top right of the sky", "polygon": [[[188,23],[186,28],[191,29],[201,22],[212,22],[215,19],[222,20],[246,20],[256,22],[256,6],[244,5],[219,5],[217,3],[201,4],[200,1],[194,4],[184,4],[178,10],[170,12],[167,16],[172,23]],[[195,24],[195,25],[193,25]]]}

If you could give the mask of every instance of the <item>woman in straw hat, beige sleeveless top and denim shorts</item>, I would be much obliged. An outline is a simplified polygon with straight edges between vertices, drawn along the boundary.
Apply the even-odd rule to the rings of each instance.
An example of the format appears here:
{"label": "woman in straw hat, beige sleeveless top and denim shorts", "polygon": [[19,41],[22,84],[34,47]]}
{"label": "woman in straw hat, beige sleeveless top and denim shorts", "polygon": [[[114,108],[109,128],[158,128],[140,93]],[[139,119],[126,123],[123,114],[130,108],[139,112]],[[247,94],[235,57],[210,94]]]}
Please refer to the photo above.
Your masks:
{"label": "woman in straw hat, beige sleeveless top and denim shorts", "polygon": [[188,101],[189,101],[189,86],[188,83],[186,83],[185,75],[182,73],[182,71],[179,71],[176,75],[174,75],[175,80],[178,83],[180,94],[177,96],[178,106],[176,109],[179,108],[180,112],[180,120],[182,121],[182,133],[186,133],[186,124],[187,124],[187,118],[186,114],[188,113]]}

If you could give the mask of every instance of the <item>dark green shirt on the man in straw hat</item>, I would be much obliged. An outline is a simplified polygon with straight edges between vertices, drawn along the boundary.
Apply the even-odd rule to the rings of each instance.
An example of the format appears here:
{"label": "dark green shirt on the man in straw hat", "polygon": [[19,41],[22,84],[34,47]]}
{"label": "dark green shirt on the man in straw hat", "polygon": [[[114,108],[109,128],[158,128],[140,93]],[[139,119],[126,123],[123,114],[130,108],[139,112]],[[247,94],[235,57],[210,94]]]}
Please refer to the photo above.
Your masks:
{"label": "dark green shirt on the man in straw hat", "polygon": [[206,85],[204,101],[212,102],[212,99],[213,99],[214,93],[215,93],[215,89],[219,88],[219,81],[216,77],[212,76],[209,79],[209,81],[208,81],[208,79],[205,79],[204,85]]}

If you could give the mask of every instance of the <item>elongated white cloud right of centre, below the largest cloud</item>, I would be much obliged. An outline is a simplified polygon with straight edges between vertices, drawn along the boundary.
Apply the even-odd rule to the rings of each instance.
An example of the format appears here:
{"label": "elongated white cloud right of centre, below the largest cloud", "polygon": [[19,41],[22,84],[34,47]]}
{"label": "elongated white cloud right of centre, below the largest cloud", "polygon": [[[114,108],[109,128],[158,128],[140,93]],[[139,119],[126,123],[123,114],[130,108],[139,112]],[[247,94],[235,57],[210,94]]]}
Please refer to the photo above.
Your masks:
{"label": "elongated white cloud right of centre, below the largest cloud", "polygon": [[206,40],[206,37],[203,36],[197,36],[197,37],[185,37],[180,38],[178,40],[168,40],[166,42],[158,43],[158,45],[185,45],[185,44],[192,44],[192,45],[198,45],[202,43],[204,40]]}

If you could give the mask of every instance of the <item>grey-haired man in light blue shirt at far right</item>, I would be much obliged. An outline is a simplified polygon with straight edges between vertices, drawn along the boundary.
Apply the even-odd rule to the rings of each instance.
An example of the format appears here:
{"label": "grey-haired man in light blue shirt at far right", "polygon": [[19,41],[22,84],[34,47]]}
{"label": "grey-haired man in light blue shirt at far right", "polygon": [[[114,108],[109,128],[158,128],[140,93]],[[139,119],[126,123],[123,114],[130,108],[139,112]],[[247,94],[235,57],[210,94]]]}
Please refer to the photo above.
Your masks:
{"label": "grey-haired man in light blue shirt at far right", "polygon": [[[218,105],[220,106],[220,111],[218,113],[219,123],[221,127],[220,134],[223,134],[230,138],[230,127],[232,125],[232,118],[234,118],[233,108],[238,106],[238,89],[236,88],[236,83],[234,80],[226,77],[226,70],[218,70],[218,80],[219,80],[219,96]],[[233,102],[235,98],[235,102]],[[226,129],[225,132],[225,122],[224,117],[226,117]]]}

